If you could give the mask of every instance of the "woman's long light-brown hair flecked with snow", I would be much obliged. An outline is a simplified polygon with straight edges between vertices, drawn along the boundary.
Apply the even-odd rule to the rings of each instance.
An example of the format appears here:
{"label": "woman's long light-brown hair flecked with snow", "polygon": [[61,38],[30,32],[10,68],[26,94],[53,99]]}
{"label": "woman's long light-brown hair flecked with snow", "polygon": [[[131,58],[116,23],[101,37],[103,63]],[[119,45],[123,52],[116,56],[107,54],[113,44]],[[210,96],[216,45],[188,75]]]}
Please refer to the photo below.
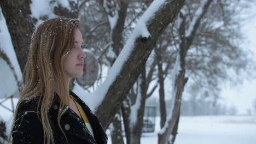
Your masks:
{"label": "woman's long light-brown hair flecked with snow", "polygon": [[63,59],[74,46],[74,30],[78,28],[78,24],[78,19],[50,19],[40,24],[31,37],[30,51],[24,69],[25,88],[20,94],[14,121],[22,101],[40,97],[41,105],[38,105],[37,113],[43,125],[44,143],[54,143],[48,110],[53,103],[56,82],[59,84],[61,99],[57,122],[65,135],[60,119],[67,110],[65,104],[69,101],[69,83],[63,70]]}

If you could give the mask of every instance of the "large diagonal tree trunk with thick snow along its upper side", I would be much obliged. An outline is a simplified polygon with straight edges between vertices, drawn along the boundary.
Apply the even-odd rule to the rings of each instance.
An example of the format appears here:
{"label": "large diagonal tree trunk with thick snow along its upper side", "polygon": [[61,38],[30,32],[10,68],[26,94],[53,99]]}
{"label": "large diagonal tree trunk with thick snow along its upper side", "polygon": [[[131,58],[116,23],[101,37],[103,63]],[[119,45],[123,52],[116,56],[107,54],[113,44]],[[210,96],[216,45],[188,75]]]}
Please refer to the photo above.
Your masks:
{"label": "large diagonal tree trunk with thick snow along its upper side", "polygon": [[[91,95],[97,101],[90,107],[96,108],[96,115],[107,128],[119,107],[139,76],[156,39],[172,22],[184,1],[154,1],[138,20],[131,37],[120,52],[103,85]],[[86,101],[86,100],[85,100]],[[108,102],[107,102],[108,101]],[[109,105],[109,101],[115,105]],[[99,106],[100,105],[100,106]]]}

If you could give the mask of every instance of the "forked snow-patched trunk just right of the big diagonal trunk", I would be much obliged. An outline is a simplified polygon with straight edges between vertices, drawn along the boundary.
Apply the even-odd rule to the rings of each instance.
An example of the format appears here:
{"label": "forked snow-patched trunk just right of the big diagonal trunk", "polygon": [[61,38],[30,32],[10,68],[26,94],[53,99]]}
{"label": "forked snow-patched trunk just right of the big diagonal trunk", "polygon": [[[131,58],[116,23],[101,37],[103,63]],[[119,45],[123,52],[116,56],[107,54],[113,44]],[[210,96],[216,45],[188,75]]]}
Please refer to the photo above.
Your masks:
{"label": "forked snow-patched trunk just right of the big diagonal trunk", "polygon": [[122,114],[127,140],[126,143],[140,143],[146,100],[157,88],[157,85],[149,88],[149,85],[153,83],[155,65],[156,59],[153,59],[151,63],[147,61],[147,65],[145,65],[135,85],[133,85],[127,98],[123,101]]}

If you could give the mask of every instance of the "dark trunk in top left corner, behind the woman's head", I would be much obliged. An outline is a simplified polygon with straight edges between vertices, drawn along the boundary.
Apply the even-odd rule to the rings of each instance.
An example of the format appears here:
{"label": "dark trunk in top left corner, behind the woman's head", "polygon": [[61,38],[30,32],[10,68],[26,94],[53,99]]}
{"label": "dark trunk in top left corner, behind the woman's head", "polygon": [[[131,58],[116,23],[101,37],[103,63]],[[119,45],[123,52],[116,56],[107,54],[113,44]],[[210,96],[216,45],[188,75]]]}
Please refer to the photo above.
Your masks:
{"label": "dark trunk in top left corner, behind the woman's head", "polygon": [[11,42],[13,43],[20,69],[23,73],[27,62],[27,53],[30,45],[30,38],[34,31],[36,19],[31,17],[31,0],[15,1],[1,0],[0,6],[5,17]]}

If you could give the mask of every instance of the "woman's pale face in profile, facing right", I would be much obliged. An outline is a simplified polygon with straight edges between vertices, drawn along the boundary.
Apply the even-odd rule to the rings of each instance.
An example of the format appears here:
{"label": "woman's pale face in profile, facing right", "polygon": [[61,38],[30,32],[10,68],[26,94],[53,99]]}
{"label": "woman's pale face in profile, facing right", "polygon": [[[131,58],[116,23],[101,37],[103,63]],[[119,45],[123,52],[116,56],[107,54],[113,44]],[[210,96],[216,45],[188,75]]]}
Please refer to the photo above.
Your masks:
{"label": "woman's pale face in profile, facing right", "polygon": [[82,50],[83,38],[78,28],[74,32],[74,47],[63,61],[63,69],[67,79],[83,75],[85,53]]}

